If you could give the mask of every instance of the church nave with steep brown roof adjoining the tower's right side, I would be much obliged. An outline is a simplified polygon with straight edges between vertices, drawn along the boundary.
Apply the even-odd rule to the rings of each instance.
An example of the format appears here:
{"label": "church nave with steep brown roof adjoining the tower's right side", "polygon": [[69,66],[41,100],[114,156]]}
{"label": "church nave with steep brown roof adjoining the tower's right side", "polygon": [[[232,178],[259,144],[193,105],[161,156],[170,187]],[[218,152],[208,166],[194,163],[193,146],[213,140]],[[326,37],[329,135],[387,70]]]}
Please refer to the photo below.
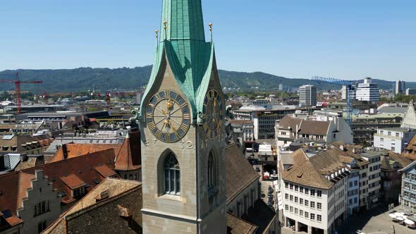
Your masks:
{"label": "church nave with steep brown roof adjoining the tower's right side", "polygon": [[279,214],[262,200],[259,178],[243,152],[235,144],[229,144],[226,147],[226,209],[231,233],[281,233]]}

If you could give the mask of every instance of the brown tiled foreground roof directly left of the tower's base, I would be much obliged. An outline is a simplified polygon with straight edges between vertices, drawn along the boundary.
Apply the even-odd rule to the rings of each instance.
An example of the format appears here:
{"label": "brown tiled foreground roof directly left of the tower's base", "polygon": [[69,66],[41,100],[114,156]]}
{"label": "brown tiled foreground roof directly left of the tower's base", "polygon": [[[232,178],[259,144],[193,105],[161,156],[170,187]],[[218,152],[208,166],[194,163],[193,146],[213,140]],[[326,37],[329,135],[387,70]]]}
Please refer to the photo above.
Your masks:
{"label": "brown tiled foreground roof directly left of the tower's base", "polygon": [[[105,196],[106,198],[97,200],[97,197],[102,197],[103,193],[108,195],[108,197]],[[128,211],[128,216],[132,215],[134,221],[141,226],[141,194],[142,184],[140,182],[133,180],[121,180],[117,178],[106,178],[102,181],[102,183],[99,183],[99,185],[94,187],[94,189],[87,195],[82,197],[82,199],[80,199],[80,201],[78,201],[73,207],[61,214],[61,216],[59,216],[54,223],[44,230],[43,233],[68,233],[68,228],[71,229],[71,226],[73,225],[80,225],[80,223],[76,222],[77,218],[90,219],[90,222],[87,222],[89,224],[85,224],[85,226],[81,226],[80,228],[85,228],[85,230],[87,230],[87,228],[97,228],[96,231],[102,230],[103,222],[108,224],[109,219],[118,221],[118,219],[126,218],[126,214],[119,214],[121,209],[123,211]],[[132,197],[137,198],[137,201],[139,202],[133,202],[134,205],[131,205]],[[88,215],[93,210],[102,210],[106,213],[102,216],[84,217],[85,214]],[[71,222],[71,220],[75,221]],[[114,223],[109,224],[114,225]],[[121,230],[123,233],[135,233],[134,230],[131,229],[126,231],[127,232],[123,232],[123,230]]]}

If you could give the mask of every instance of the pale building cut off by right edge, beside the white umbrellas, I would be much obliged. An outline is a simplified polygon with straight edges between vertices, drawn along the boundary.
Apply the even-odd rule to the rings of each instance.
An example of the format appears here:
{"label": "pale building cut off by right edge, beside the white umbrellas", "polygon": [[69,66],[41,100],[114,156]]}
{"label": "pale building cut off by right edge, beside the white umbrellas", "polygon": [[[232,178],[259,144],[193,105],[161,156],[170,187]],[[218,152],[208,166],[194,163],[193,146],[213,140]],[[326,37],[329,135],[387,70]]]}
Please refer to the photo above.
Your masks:
{"label": "pale building cut off by right edge, beside the white umbrellas", "polygon": [[402,173],[401,207],[416,212],[416,161],[400,169]]}

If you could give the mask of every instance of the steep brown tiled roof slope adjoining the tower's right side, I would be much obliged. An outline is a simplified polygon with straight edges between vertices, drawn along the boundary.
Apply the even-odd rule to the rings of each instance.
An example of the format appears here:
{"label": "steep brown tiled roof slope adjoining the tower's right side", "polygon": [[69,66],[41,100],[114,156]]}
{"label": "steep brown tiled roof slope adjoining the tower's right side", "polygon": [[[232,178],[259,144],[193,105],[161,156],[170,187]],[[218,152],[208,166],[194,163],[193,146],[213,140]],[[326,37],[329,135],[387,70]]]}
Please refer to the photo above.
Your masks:
{"label": "steep brown tiled roof slope adjoining the tower's right side", "polygon": [[226,147],[226,197],[227,204],[232,202],[240,192],[251,183],[258,180],[260,175],[245,159],[243,152],[236,144]]}

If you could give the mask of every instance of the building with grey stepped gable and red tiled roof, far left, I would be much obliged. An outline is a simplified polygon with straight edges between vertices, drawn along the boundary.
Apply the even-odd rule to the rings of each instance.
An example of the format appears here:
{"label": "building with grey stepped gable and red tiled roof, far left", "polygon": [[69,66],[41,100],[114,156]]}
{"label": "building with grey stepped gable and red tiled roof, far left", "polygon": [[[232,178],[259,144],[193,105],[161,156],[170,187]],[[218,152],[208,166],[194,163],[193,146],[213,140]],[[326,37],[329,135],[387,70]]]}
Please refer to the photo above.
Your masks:
{"label": "building with grey stepped gable and red tiled roof, far left", "polygon": [[114,149],[0,175],[0,207],[23,223],[18,233],[41,233],[104,178],[118,178]]}

